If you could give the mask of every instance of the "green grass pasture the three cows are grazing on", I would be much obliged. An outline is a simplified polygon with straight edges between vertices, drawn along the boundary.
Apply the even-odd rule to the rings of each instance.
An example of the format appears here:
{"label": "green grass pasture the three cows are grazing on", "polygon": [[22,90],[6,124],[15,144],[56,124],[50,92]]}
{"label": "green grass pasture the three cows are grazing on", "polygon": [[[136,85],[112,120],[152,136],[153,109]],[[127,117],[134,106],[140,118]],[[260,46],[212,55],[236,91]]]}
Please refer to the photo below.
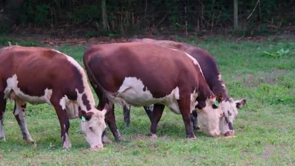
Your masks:
{"label": "green grass pasture the three cows are grazing on", "polygon": [[[218,62],[231,97],[247,99],[234,121],[237,137],[212,138],[196,132],[197,140],[188,140],[181,116],[165,109],[158,139],[151,140],[146,136],[150,122],[144,109],[131,108],[131,124],[126,128],[123,111],[116,105],[117,125],[125,141],[116,142],[108,130],[113,143],[90,150],[80,121],[74,119],[69,130],[72,148],[62,149],[53,107],[29,104],[26,118],[36,143],[27,144],[8,101],[4,117],[7,142],[0,141],[0,165],[295,165],[295,41],[178,40],[208,50]],[[85,47],[57,50],[82,64]]]}

